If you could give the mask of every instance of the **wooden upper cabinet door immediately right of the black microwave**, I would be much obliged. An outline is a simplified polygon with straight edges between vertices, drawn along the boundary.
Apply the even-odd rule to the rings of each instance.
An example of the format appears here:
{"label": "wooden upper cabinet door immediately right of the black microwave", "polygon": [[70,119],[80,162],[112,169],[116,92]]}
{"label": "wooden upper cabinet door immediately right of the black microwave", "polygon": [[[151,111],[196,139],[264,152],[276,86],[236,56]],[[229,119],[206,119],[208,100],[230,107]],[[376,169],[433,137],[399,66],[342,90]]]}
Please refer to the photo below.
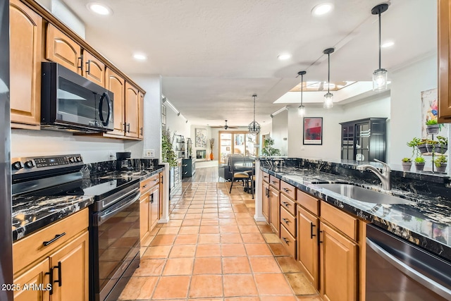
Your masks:
{"label": "wooden upper cabinet door immediately right of the black microwave", "polygon": [[110,68],[106,68],[106,89],[113,92],[113,135],[125,135],[125,80]]}

